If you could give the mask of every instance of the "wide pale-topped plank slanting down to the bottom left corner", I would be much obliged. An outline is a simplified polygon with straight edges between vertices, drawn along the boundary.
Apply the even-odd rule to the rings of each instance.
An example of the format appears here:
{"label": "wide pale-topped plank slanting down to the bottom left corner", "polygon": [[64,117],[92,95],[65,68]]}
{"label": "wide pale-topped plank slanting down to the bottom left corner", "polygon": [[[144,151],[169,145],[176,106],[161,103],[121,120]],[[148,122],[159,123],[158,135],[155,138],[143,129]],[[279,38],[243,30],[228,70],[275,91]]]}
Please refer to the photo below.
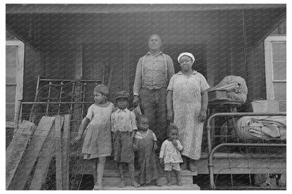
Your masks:
{"label": "wide pale-topped plank slanting down to the bottom left corner", "polygon": [[34,167],[36,159],[41,151],[41,147],[44,144],[44,141],[48,135],[51,126],[53,125],[55,117],[43,116],[39,122],[39,126],[36,128],[32,141],[30,141],[23,159],[20,161],[13,180],[11,181],[11,186],[9,189],[12,190],[22,190],[25,187],[25,183],[29,178],[29,174]]}

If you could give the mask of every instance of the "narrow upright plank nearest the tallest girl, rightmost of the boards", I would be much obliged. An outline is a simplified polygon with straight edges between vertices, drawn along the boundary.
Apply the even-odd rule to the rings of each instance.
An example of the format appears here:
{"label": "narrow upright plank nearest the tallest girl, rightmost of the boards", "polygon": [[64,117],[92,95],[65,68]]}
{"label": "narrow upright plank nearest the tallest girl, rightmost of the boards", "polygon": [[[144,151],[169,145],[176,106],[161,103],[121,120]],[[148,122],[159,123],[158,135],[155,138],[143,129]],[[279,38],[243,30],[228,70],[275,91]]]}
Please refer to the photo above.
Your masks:
{"label": "narrow upright plank nearest the tallest girl, rightmost of the boards", "polygon": [[63,190],[69,190],[69,134],[70,115],[65,115],[62,137],[62,183]]}

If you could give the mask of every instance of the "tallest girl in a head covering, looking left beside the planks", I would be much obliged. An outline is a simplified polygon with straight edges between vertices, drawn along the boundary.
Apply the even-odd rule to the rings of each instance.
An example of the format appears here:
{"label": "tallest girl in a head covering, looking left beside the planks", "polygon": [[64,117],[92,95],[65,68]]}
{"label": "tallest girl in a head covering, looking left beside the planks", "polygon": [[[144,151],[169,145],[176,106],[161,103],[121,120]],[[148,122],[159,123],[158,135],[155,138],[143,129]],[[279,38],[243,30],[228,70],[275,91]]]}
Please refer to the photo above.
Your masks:
{"label": "tallest girl in a head covering, looking left beside the planks", "polygon": [[110,116],[114,111],[114,104],[107,102],[108,94],[109,90],[105,85],[100,84],[94,88],[95,103],[89,106],[87,115],[81,122],[78,136],[72,139],[72,144],[81,141],[84,130],[88,127],[82,153],[84,159],[93,162],[93,190],[102,189],[105,158],[112,153]]}

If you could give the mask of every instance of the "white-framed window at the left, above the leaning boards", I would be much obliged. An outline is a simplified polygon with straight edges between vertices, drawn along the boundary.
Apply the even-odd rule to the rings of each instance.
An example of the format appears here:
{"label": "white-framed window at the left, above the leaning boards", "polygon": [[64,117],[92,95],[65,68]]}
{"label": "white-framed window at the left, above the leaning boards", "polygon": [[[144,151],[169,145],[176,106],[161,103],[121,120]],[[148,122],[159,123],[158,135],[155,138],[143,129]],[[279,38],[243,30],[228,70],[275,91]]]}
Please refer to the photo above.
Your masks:
{"label": "white-framed window at the left, above the leaning boards", "polygon": [[6,41],[6,127],[18,120],[22,99],[24,43]]}

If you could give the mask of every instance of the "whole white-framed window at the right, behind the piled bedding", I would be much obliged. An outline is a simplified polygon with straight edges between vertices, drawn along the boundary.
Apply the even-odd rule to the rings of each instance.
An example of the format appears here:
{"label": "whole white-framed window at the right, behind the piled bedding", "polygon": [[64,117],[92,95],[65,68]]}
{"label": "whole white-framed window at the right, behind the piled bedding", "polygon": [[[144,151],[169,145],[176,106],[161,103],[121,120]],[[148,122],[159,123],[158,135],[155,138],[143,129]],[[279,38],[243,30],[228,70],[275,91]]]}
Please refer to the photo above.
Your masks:
{"label": "whole white-framed window at the right, behind the piled bedding", "polygon": [[286,36],[265,39],[265,76],[267,99],[278,100],[286,111]]}

